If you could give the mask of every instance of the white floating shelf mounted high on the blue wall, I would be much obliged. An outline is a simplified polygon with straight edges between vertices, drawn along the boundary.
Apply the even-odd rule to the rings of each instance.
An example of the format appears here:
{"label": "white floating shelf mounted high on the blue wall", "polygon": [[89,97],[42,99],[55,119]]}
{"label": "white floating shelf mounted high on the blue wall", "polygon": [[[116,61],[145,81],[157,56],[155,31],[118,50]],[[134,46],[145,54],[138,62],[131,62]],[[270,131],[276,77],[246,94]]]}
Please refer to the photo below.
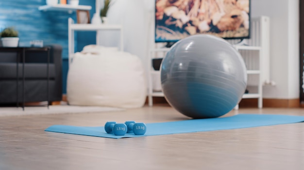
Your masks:
{"label": "white floating shelf mounted high on the blue wall", "polygon": [[56,4],[56,5],[43,5],[39,6],[38,9],[40,11],[67,11],[68,13],[72,13],[76,10],[84,10],[89,11],[92,9],[91,6],[88,5],[70,5],[70,4]]}

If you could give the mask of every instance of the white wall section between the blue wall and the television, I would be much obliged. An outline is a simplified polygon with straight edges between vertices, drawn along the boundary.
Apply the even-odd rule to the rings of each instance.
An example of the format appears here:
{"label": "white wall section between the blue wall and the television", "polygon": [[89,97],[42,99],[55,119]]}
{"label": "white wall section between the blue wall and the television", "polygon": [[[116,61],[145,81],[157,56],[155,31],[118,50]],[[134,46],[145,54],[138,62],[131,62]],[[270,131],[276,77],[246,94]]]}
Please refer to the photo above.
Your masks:
{"label": "white wall section between the blue wall and the television", "polygon": [[[101,4],[103,0],[100,1]],[[101,5],[102,6],[102,5]],[[148,62],[148,45],[151,40],[154,0],[115,0],[108,12],[109,24],[122,24],[124,51],[141,58],[145,67]],[[101,45],[117,46],[119,35],[101,32]],[[151,43],[151,42],[150,42]]]}

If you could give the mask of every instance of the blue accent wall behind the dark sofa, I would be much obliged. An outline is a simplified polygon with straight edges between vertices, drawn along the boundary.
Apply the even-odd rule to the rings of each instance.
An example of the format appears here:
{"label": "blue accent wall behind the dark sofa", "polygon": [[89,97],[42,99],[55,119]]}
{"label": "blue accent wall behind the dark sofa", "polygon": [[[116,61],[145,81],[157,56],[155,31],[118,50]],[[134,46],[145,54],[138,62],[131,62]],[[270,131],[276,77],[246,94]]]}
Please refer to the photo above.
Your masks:
{"label": "blue accent wall behind the dark sofa", "polygon": [[[60,44],[63,47],[63,93],[66,93],[68,74],[68,18],[76,22],[76,13],[63,11],[39,11],[46,0],[0,0],[0,30],[15,27],[19,32],[19,46],[29,46],[32,40],[44,44]],[[95,13],[95,0],[80,0],[80,5],[90,5],[90,17]],[[95,32],[76,32],[75,51],[84,45],[96,43]]]}

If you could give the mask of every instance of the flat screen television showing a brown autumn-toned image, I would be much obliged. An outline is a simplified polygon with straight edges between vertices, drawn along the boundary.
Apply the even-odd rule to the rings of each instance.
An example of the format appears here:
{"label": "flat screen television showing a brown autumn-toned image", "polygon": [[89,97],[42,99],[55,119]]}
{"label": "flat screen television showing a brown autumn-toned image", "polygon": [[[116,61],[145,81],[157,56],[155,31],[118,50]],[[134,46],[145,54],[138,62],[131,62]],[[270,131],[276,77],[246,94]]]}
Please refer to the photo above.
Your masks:
{"label": "flat screen television showing a brown autumn-toned image", "polygon": [[250,0],[155,0],[155,42],[195,34],[250,38]]}

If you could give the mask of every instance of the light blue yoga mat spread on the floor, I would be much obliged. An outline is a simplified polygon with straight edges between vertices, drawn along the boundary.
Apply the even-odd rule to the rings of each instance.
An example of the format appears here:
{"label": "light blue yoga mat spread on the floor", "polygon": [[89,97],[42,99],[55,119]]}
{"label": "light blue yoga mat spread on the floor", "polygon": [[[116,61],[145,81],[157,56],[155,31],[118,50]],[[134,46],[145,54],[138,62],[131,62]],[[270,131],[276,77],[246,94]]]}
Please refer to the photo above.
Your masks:
{"label": "light blue yoga mat spread on the floor", "polygon": [[144,135],[127,133],[124,136],[115,136],[114,134],[107,134],[104,131],[104,127],[76,127],[67,125],[53,125],[45,129],[45,131],[119,139],[236,128],[252,128],[299,122],[304,122],[304,116],[277,114],[237,114],[230,117],[148,123],[146,124],[147,132]]}

